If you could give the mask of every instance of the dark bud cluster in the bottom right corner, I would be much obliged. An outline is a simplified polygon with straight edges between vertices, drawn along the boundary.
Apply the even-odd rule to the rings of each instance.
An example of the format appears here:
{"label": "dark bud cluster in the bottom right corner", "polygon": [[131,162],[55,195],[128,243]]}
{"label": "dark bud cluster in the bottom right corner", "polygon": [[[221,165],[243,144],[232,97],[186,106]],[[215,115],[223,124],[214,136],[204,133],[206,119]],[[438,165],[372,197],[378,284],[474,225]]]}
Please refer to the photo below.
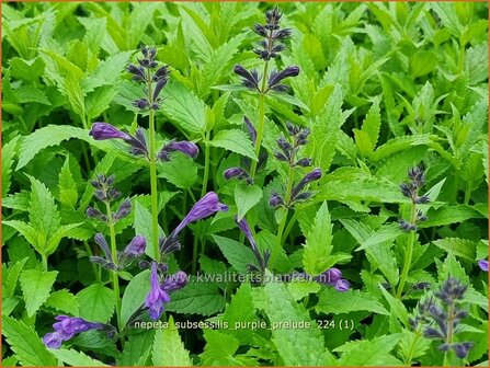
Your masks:
{"label": "dark bud cluster in the bottom right corner", "polygon": [[464,299],[466,289],[467,286],[458,279],[447,278],[434,292],[435,298],[430,297],[419,303],[419,314],[409,319],[413,329],[423,326],[425,337],[442,341],[440,350],[454,350],[458,358],[465,358],[474,346],[471,342],[454,342],[459,322],[468,315],[467,311],[456,307],[456,301]]}

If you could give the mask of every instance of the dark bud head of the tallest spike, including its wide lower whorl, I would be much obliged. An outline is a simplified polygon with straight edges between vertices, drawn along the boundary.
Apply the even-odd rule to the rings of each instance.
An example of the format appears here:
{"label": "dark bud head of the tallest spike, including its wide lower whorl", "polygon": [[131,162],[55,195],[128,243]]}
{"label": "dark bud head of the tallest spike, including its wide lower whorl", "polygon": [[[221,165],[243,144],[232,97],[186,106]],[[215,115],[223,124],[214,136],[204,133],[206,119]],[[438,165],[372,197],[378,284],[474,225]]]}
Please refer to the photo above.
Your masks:
{"label": "dark bud head of the tallest spike, including its wide lower whorl", "polygon": [[[277,8],[265,12],[265,24],[255,24],[253,31],[263,39],[259,42],[259,47],[253,51],[264,61],[269,61],[280,56],[285,49],[284,41],[289,38],[292,32],[289,28],[281,28],[282,13]],[[285,92],[287,87],[281,82],[289,77],[297,77],[299,68],[297,66],[288,66],[284,70],[274,70],[269,76],[259,76],[257,70],[247,70],[241,65],[236,65],[233,71],[241,77],[241,84],[259,93],[269,91]],[[264,78],[263,82],[262,78]],[[266,80],[266,83],[265,83]]]}

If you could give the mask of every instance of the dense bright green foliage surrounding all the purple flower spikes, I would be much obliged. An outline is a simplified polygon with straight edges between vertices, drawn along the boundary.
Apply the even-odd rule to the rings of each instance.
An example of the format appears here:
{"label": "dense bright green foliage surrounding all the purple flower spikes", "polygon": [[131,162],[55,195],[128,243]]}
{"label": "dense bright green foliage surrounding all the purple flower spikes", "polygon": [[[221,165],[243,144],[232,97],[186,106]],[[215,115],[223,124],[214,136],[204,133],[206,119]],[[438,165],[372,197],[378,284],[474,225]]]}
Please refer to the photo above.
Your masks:
{"label": "dense bright green foliage surrounding all the purple flower spikes", "polygon": [[[90,333],[59,350],[42,344],[56,314],[113,319],[114,297],[88,262],[101,230],[83,215],[92,203],[88,180],[115,173],[132,196],[135,210],[116,229],[122,243],[147,231],[147,170],[124,147],[88,135],[98,120],[128,130],[147,124],[130,104],[139,87],[124,72],[141,44],[156,45],[157,59],[172,70],[158,138],[209,146],[207,189],[230,206],[183,233],[171,269],[190,273],[200,246],[201,272],[243,272],[250,254],[237,242],[237,211],[257,226],[262,249],[273,246],[277,221],[267,202],[285,170],[271,158],[258,194],[223,180],[239,154],[254,158],[242,117],[257,122],[257,99],[214,89],[238,83],[235,64],[259,65],[250,27],[271,5],[2,3],[3,365],[375,366],[400,364],[410,348],[421,365],[441,365],[437,343],[413,344],[407,322],[424,291],[400,301],[379,287],[399,280],[407,235],[394,223],[407,217],[408,202],[398,184],[419,163],[432,203],[423,207],[429,220],[418,232],[409,284],[435,289],[448,275],[468,284],[460,335],[476,346],[465,363],[488,363],[488,274],[476,265],[488,257],[488,8],[471,2],[281,3],[294,36],[278,67],[300,67],[290,87],[303,104],[267,100],[264,147],[272,153],[286,120],[308,126],[306,152],[324,175],[315,199],[295,212],[275,272],[335,265],[352,290],[192,281],[172,296],[166,319],[334,320],[334,327],[134,331],[124,349]],[[166,233],[200,197],[203,170],[203,154],[159,165]],[[123,284],[126,320],[147,290],[148,274],[138,273]],[[354,329],[341,330],[341,320]]]}

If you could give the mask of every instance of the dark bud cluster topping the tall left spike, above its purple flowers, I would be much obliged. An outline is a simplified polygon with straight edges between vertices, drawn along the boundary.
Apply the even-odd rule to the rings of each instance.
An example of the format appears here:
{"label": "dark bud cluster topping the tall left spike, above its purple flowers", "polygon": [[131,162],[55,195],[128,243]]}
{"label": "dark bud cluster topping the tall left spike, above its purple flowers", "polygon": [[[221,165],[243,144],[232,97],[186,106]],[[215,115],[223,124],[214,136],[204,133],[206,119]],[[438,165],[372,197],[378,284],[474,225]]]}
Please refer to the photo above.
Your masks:
{"label": "dark bud cluster topping the tall left spike, above its purple flowers", "polygon": [[[133,102],[133,105],[139,110],[159,110],[160,108],[160,92],[169,81],[169,66],[158,68],[158,62],[155,60],[157,49],[155,47],[141,47],[143,58],[138,59],[139,66],[129,64],[127,71],[133,74],[133,80],[145,84],[145,97]],[[153,72],[153,70],[157,71]],[[153,87],[155,83],[155,87]]]}

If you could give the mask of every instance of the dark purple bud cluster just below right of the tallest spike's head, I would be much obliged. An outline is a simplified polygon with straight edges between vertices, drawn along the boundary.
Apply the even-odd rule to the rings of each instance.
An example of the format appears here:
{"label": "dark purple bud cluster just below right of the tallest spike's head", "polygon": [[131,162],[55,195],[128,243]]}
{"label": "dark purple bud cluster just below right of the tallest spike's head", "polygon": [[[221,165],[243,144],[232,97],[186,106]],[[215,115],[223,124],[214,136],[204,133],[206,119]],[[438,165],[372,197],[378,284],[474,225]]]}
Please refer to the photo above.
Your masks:
{"label": "dark purple bud cluster just below right of the tallest spike's head", "polygon": [[[281,151],[274,152],[274,157],[280,161],[285,161],[289,165],[289,170],[295,168],[308,168],[311,165],[310,158],[299,158],[299,149],[307,143],[307,138],[310,133],[308,128],[301,128],[290,123],[286,123],[289,139],[281,137],[277,139],[277,146]],[[295,203],[306,200],[311,197],[312,192],[304,191],[304,188],[311,182],[321,177],[321,169],[317,168],[305,174],[305,176],[292,188],[286,197],[281,196],[277,192],[273,192],[269,204],[272,208],[278,206],[292,207]]]}

